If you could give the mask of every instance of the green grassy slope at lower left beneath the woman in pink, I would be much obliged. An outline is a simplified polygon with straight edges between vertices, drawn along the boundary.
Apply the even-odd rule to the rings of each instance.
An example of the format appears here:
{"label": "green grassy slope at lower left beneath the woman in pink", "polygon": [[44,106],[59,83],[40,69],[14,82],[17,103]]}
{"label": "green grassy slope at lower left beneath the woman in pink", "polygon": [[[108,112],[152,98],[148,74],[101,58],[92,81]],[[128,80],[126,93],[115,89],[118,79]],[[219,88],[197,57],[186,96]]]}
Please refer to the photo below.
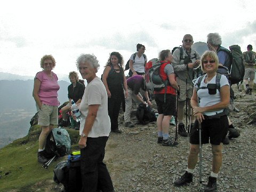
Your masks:
{"label": "green grassy slope at lower left beneath the woman in pink", "polygon": [[[73,150],[77,150],[78,131],[67,129]],[[41,129],[30,127],[26,137],[0,149],[0,191],[34,191],[35,183],[52,180],[53,168],[67,157],[61,157],[44,169],[37,162],[38,138]],[[42,191],[42,190],[40,190]]]}

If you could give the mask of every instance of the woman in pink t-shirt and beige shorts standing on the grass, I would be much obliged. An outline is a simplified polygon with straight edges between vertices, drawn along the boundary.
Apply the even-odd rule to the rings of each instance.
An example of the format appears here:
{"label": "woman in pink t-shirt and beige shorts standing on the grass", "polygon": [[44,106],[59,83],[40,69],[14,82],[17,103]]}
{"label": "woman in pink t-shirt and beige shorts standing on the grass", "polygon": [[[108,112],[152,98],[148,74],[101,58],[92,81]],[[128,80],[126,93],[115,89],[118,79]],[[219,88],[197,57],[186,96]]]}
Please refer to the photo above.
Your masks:
{"label": "woman in pink t-shirt and beige shorts standing on the grass", "polygon": [[36,101],[38,113],[38,125],[41,125],[42,132],[39,136],[38,162],[45,163],[47,158],[44,155],[44,147],[47,135],[58,124],[58,94],[60,89],[58,77],[52,72],[55,67],[55,59],[52,55],[44,55],[40,62],[42,71],[36,74],[34,80],[33,97]]}

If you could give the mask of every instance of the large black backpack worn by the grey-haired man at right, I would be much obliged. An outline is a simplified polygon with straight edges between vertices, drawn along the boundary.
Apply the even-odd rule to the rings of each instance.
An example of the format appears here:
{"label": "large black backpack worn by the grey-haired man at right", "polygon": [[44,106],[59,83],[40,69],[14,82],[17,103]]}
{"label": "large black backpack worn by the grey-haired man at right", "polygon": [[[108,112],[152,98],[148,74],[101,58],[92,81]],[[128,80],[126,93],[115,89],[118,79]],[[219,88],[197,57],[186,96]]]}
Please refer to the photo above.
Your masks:
{"label": "large black backpack worn by the grey-haired man at right", "polygon": [[244,56],[239,45],[231,45],[229,46],[229,50],[220,46],[218,52],[225,51],[230,57],[231,63],[227,67],[229,70],[229,81],[233,85],[241,82],[244,78]]}

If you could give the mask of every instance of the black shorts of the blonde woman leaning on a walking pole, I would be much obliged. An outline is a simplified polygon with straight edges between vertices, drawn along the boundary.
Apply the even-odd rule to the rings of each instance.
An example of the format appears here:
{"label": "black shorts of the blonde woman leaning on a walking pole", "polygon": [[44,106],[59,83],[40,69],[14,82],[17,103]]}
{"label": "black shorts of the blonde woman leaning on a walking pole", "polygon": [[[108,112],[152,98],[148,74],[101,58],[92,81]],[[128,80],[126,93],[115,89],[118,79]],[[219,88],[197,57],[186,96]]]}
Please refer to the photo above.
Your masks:
{"label": "black shorts of the blonde woman leaning on a walking pole", "polygon": [[[225,140],[228,131],[228,117],[226,115],[220,118],[204,119],[202,122],[201,141],[202,144],[210,143],[220,145]],[[191,129],[189,142],[194,145],[199,144],[198,121],[195,121]]]}

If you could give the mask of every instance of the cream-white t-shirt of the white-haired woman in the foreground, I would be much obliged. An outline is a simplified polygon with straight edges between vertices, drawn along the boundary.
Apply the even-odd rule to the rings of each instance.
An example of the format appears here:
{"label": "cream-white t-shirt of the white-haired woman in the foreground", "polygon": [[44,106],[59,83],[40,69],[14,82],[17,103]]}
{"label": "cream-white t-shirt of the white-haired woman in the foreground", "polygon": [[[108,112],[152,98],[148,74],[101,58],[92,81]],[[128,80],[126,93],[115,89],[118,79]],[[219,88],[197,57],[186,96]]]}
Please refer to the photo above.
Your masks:
{"label": "cream-white t-shirt of the white-haired woman in the foreground", "polygon": [[111,131],[110,118],[108,116],[108,95],[106,88],[99,77],[95,77],[84,90],[84,95],[79,106],[82,115],[85,116],[80,122],[80,135],[83,132],[85,119],[89,105],[100,105],[97,117],[87,137],[98,138],[109,136]]}

